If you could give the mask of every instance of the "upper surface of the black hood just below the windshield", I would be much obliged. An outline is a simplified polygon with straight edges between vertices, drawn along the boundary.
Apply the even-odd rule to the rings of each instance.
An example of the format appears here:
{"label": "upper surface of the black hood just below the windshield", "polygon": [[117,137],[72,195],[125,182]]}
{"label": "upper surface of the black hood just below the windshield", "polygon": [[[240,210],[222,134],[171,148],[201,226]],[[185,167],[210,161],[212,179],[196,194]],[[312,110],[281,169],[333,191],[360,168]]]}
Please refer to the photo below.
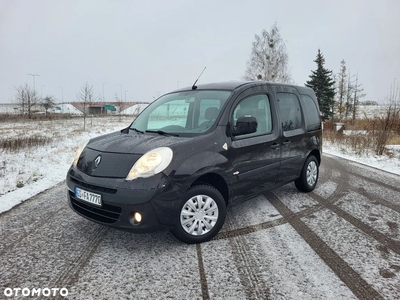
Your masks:
{"label": "upper surface of the black hood just below the windshield", "polygon": [[98,152],[142,155],[159,147],[181,143],[183,140],[186,138],[132,131],[130,133],[114,132],[90,140],[87,148]]}

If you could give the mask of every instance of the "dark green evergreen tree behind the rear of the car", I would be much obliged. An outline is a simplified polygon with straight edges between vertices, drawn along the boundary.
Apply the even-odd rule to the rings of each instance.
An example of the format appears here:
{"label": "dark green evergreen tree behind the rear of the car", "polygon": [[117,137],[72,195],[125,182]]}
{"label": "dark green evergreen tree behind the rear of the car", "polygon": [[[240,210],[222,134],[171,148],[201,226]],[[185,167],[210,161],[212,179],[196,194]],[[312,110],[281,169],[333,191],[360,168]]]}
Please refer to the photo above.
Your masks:
{"label": "dark green evergreen tree behind the rear of the car", "polygon": [[335,80],[333,79],[333,72],[324,68],[325,58],[320,49],[318,49],[317,58],[314,62],[317,63],[317,70],[312,71],[310,80],[305,85],[314,90],[322,113],[322,119],[326,120],[333,117]]}

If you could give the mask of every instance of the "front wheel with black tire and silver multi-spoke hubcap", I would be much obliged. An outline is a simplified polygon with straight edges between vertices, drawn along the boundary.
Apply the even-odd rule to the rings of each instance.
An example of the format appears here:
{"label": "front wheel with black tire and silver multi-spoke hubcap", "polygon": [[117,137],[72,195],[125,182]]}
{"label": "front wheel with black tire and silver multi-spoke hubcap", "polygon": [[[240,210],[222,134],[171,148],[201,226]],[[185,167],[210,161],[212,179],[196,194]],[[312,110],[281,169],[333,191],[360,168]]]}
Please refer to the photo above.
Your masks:
{"label": "front wheel with black tire and silver multi-spoke hubcap", "polygon": [[172,233],[184,243],[202,243],[219,232],[225,217],[221,193],[210,185],[196,185],[184,194]]}

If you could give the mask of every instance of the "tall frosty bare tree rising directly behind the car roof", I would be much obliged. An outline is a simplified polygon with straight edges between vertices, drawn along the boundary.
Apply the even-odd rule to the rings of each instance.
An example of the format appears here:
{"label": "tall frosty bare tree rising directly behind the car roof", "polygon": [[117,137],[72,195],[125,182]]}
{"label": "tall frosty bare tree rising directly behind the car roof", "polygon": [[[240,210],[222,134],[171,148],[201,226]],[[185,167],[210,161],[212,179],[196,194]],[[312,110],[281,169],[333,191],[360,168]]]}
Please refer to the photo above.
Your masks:
{"label": "tall frosty bare tree rising directly behind the car roof", "polygon": [[260,36],[255,35],[244,79],[290,83],[288,61],[286,44],[275,23],[270,31],[264,29]]}

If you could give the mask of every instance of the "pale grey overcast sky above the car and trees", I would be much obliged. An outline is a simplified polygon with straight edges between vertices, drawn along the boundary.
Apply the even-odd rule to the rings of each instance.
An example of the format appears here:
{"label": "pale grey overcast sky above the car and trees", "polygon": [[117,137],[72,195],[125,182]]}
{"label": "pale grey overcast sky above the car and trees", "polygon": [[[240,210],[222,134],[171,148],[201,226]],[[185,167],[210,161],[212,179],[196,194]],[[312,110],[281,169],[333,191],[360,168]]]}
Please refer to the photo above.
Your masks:
{"label": "pale grey overcast sky above the car and trees", "polygon": [[[241,79],[255,34],[277,22],[293,80],[309,79],[318,48],[338,73],[358,71],[365,100],[400,81],[400,0],[21,1],[0,0],[0,103],[24,83],[76,101],[151,101],[193,84]],[[103,85],[103,83],[105,83]],[[13,93],[15,100],[15,94]]]}

